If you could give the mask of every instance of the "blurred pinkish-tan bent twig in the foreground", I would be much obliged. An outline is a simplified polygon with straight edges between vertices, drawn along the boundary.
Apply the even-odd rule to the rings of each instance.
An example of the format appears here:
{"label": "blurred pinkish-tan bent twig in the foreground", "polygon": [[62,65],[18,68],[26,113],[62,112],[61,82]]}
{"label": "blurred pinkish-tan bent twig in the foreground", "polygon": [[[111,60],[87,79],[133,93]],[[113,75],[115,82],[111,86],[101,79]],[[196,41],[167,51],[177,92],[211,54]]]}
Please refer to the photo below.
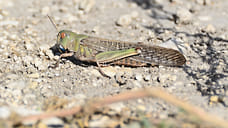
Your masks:
{"label": "blurred pinkish-tan bent twig in the foreground", "polygon": [[[173,95],[170,95],[166,93],[165,91],[158,89],[158,88],[146,88],[146,89],[141,89],[141,90],[136,90],[136,91],[128,91],[124,92],[115,96],[108,96],[105,97],[101,100],[96,101],[96,103],[88,105],[90,111],[93,111],[94,109],[97,109],[99,107],[103,107],[108,104],[116,103],[116,102],[121,102],[121,101],[127,101],[130,99],[137,99],[137,98],[143,98],[143,97],[155,97],[155,98],[160,98],[163,99],[166,102],[172,103],[175,106],[183,108],[185,111],[189,112],[190,114],[195,115],[199,119],[211,123],[214,126],[220,126],[220,127],[228,127],[228,123],[214,115],[211,115],[209,113],[204,112],[202,109],[197,108],[195,106],[192,106],[186,102],[183,102],[181,100],[178,100],[176,97]],[[41,120],[45,118],[50,118],[50,117],[66,117],[70,116],[73,114],[76,114],[82,110],[82,106],[77,106],[71,109],[66,109],[66,110],[60,110],[60,111],[54,111],[54,112],[49,112],[49,113],[43,113],[40,115],[32,115],[32,116],[27,116],[22,118],[23,121],[28,121],[28,120]]]}

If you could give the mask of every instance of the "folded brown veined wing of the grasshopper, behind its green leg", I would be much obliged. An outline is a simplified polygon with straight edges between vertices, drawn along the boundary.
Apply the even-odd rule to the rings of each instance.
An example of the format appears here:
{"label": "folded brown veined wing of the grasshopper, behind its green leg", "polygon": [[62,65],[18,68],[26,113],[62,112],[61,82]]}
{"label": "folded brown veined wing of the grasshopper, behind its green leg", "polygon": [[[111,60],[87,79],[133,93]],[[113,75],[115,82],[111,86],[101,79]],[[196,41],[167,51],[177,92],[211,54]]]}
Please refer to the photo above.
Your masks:
{"label": "folded brown veined wing of the grasshopper, behind its green leg", "polygon": [[150,46],[140,43],[130,43],[117,40],[108,40],[97,37],[88,37],[81,41],[93,49],[93,51],[105,52],[113,50],[122,50],[129,48],[138,48],[141,53],[126,58],[121,58],[110,62],[110,64],[128,65],[128,66],[145,66],[151,65],[166,65],[166,66],[181,66],[185,64],[185,57],[177,50],[164,48],[160,46]]}

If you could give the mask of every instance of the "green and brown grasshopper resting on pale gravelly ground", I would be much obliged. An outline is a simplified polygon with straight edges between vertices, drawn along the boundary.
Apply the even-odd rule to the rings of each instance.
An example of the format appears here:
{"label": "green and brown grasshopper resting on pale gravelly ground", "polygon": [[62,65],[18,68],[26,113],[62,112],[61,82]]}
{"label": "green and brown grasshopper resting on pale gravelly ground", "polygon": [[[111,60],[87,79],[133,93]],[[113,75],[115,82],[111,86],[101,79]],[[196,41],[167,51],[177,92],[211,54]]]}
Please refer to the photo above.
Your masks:
{"label": "green and brown grasshopper resting on pale gravelly ground", "polygon": [[69,30],[61,30],[58,33],[56,46],[61,53],[60,59],[74,56],[77,60],[95,63],[99,67],[100,73],[106,77],[109,76],[101,70],[102,66],[181,66],[186,62],[185,57],[174,49],[103,39],[76,34]]}

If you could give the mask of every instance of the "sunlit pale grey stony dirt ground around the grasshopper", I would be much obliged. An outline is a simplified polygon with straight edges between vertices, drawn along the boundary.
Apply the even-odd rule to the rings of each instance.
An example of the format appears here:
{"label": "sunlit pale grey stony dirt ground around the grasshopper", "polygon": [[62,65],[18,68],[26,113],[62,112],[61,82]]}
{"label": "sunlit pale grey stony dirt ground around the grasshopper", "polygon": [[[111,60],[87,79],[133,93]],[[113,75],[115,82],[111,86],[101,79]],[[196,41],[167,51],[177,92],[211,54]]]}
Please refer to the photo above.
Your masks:
{"label": "sunlit pale grey stony dirt ground around the grasshopper", "polygon": [[[54,96],[70,100],[67,107],[71,107],[94,97],[162,87],[228,120],[227,6],[227,0],[2,0],[0,111],[3,115],[12,109],[21,115],[39,113]],[[47,14],[59,30],[169,47],[182,52],[187,62],[182,67],[103,68],[111,79],[101,76],[96,65],[72,58],[50,68],[59,58],[51,50],[58,31]],[[219,100],[214,103],[213,98]],[[111,107],[140,110],[158,119],[178,111],[158,99]]]}

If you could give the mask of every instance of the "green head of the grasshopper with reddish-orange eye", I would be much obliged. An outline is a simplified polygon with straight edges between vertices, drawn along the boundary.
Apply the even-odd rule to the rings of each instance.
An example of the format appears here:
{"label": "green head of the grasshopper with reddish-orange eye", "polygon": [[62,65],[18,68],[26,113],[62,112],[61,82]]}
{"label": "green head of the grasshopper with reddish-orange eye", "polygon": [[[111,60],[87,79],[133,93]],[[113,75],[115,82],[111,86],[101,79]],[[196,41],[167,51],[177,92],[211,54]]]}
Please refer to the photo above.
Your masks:
{"label": "green head of the grasshopper with reddish-orange eye", "polygon": [[61,53],[65,53],[69,49],[69,45],[72,41],[73,32],[68,30],[62,30],[57,35],[57,47]]}

